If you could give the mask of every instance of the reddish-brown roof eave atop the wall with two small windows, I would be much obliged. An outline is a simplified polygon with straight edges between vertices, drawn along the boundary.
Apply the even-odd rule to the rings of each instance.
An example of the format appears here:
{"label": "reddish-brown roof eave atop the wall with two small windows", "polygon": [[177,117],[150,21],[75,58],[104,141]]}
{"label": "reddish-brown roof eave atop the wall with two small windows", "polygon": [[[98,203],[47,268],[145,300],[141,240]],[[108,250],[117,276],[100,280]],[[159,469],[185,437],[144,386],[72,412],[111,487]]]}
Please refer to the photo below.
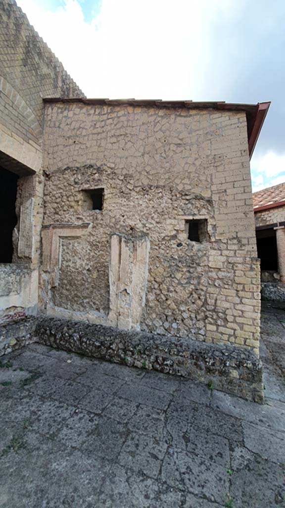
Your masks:
{"label": "reddish-brown roof eave atop the wall with two small windows", "polygon": [[193,102],[193,101],[162,101],[161,99],[86,99],[84,97],[46,97],[45,103],[78,103],[93,106],[142,106],[156,108],[187,108],[187,109],[217,109],[224,111],[244,111],[247,121],[248,152],[250,158],[257,143],[270,102],[258,104],[231,104],[225,102]]}

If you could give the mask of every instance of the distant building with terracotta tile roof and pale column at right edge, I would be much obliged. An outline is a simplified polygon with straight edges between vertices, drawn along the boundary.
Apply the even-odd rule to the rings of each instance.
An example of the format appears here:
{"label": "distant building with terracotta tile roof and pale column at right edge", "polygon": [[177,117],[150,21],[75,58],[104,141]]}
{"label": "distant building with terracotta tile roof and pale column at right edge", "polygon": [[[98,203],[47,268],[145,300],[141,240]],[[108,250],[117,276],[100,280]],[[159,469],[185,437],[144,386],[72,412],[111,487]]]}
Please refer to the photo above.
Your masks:
{"label": "distant building with terracotta tile roof and pale column at right edge", "polygon": [[285,182],[253,193],[253,201],[262,296],[285,301]]}

